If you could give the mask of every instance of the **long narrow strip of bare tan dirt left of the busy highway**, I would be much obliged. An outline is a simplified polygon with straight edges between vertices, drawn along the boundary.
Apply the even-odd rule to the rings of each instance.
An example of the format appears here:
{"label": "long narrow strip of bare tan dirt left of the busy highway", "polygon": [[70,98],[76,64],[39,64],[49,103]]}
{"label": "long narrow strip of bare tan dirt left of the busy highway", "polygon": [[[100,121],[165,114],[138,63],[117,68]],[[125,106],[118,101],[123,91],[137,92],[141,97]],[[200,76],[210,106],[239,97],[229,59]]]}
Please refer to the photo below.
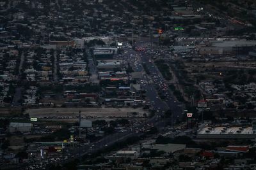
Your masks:
{"label": "long narrow strip of bare tan dirt left of the busy highway", "polygon": [[81,111],[82,117],[126,117],[127,113],[137,112],[138,116],[148,113],[142,108],[38,108],[28,109],[30,117],[76,117]]}

